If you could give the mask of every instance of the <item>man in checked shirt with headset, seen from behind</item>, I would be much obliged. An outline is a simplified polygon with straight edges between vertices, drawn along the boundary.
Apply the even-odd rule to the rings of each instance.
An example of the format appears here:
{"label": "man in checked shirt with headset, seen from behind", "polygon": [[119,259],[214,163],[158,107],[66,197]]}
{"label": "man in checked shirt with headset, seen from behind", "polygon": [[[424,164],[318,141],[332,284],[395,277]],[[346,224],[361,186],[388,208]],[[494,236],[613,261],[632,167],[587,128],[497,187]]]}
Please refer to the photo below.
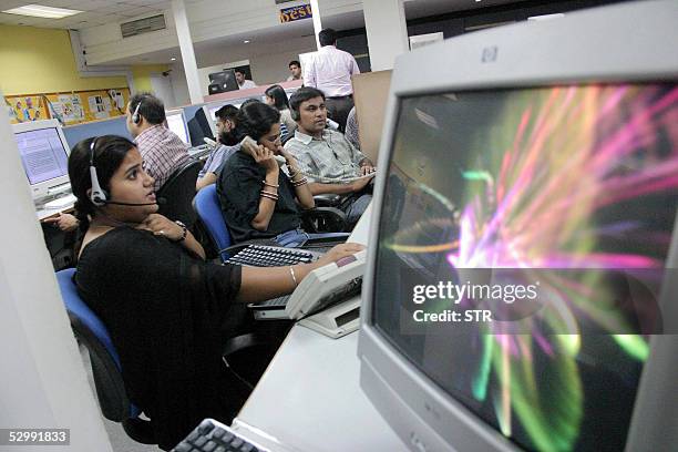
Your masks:
{"label": "man in checked shirt with headset, seen from behind", "polygon": [[144,168],[154,179],[157,192],[188,160],[188,146],[165,127],[165,105],[150,93],[132,96],[127,105],[127,130],[144,160]]}

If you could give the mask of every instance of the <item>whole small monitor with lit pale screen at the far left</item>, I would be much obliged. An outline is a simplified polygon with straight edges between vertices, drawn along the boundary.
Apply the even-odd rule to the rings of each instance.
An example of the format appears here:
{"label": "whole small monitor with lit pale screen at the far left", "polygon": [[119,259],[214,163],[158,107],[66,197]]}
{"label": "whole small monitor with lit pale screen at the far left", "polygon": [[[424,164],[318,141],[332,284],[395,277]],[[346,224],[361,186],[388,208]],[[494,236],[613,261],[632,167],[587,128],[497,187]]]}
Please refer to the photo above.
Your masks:
{"label": "whole small monitor with lit pale screen at the far left", "polygon": [[70,189],[70,148],[56,120],[12,124],[33,201]]}

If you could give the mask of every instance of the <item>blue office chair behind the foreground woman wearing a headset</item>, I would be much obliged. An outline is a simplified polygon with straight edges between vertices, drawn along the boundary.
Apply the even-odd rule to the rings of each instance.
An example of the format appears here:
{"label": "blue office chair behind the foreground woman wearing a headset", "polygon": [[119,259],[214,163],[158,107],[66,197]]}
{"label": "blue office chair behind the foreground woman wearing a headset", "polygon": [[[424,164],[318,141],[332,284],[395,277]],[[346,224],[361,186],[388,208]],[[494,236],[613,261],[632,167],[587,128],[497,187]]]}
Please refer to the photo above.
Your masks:
{"label": "blue office chair behind the foreground woman wearing a headset", "polygon": [[56,281],[71,320],[71,328],[90,353],[101,411],[104,418],[121,422],[125,433],[134,441],[156,444],[151,422],[140,418],[141,410],[127,398],[120,357],[109,330],[78,295],[73,282],[74,274],[74,268],[56,271]]}

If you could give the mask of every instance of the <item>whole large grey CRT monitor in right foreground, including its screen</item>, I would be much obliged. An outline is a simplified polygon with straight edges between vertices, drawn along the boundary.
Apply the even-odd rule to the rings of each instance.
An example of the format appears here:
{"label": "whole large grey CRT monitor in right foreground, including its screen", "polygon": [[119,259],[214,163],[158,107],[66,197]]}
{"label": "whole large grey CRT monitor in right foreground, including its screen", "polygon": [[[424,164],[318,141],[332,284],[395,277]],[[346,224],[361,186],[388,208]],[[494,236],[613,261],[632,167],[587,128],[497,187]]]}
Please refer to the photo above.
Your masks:
{"label": "whole large grey CRT monitor in right foreground, including its screen", "polygon": [[676,18],[625,3],[398,59],[359,356],[412,451],[678,444]]}

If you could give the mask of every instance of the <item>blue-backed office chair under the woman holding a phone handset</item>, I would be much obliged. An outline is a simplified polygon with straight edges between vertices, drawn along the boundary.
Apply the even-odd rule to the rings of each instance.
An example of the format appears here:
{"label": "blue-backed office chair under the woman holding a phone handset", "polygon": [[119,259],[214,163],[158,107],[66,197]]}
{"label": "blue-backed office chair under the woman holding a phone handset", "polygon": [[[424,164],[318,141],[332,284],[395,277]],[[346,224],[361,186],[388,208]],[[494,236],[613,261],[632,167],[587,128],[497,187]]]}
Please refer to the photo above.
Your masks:
{"label": "blue-backed office chair under the woman holding a phone handset", "polygon": [[[212,245],[222,261],[228,260],[229,251],[237,250],[244,244],[235,244],[230,237],[228,226],[222,214],[222,206],[216,193],[216,185],[212,184],[201,189],[193,199],[193,208],[197,214],[202,225],[207,230]],[[346,215],[343,212],[331,207],[316,207],[306,210],[304,214],[304,227],[309,233],[327,233],[326,228],[333,227],[333,230],[342,230],[346,227]],[[341,243],[346,242],[348,234],[331,234],[328,235],[327,242]],[[266,243],[275,245],[271,240],[250,240],[248,243]],[[322,246],[322,239],[314,240],[314,246]]]}

